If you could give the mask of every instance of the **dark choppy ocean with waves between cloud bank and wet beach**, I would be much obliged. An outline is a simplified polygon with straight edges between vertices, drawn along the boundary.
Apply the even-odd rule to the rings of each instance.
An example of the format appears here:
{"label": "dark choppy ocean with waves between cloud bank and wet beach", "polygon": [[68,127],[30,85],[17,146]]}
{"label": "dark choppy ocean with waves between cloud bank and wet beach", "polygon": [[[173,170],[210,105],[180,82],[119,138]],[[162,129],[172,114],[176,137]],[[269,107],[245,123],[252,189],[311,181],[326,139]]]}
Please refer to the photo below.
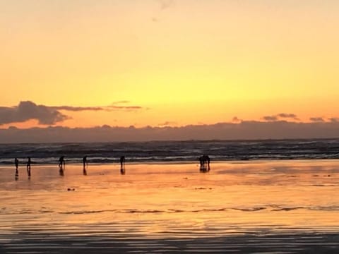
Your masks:
{"label": "dark choppy ocean with waves between cloud bank and wet beach", "polygon": [[61,156],[67,163],[79,163],[87,155],[92,163],[194,162],[207,154],[214,161],[258,159],[335,159],[339,139],[317,140],[239,140],[239,141],[153,141],[142,143],[42,143],[0,144],[0,164],[13,164],[13,158],[33,164],[55,164]]}

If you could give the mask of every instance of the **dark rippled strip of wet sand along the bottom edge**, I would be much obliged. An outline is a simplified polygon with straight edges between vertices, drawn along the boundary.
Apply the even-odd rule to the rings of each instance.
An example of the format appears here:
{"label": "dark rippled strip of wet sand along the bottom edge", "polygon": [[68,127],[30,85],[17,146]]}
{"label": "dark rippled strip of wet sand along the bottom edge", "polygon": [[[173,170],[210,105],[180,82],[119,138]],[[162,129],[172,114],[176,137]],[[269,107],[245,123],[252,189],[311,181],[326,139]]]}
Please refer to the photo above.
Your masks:
{"label": "dark rippled strip of wet sand along the bottom edge", "polygon": [[200,238],[117,238],[26,234],[7,253],[338,253],[338,234],[274,234]]}

